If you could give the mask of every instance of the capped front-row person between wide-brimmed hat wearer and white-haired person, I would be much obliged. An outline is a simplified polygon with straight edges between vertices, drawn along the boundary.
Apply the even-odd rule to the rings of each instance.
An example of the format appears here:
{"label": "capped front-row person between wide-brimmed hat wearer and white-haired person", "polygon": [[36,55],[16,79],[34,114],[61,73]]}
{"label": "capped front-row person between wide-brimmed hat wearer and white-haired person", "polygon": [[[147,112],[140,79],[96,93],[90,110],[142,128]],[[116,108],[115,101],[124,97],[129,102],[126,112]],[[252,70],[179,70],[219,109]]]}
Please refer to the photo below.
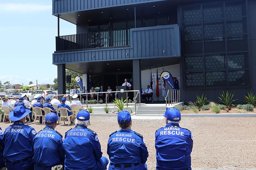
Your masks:
{"label": "capped front-row person between wide-brimmed hat wearer and white-haired person", "polygon": [[58,119],[56,113],[47,114],[44,121],[46,126],[34,138],[35,170],[51,170],[52,166],[64,165],[64,138],[54,130]]}

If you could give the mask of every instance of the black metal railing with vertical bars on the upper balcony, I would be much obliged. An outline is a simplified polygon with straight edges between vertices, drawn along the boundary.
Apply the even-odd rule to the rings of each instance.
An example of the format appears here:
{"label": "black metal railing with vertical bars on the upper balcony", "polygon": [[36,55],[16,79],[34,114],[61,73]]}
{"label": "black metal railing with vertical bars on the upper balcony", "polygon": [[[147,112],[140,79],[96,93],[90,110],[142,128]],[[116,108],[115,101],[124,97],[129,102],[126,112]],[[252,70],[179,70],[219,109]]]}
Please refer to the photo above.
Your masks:
{"label": "black metal railing with vertical bars on the upper balcony", "polygon": [[130,45],[130,29],[63,35],[56,37],[56,51]]}

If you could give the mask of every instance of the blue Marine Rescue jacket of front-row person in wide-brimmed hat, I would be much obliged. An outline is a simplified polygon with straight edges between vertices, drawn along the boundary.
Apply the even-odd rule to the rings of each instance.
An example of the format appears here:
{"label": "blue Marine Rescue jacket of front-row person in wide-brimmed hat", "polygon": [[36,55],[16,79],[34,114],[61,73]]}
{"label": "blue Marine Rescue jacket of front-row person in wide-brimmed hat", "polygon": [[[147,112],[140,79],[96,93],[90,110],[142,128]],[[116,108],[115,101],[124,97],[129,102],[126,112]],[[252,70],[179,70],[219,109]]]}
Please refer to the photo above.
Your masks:
{"label": "blue Marine Rescue jacket of front-row person in wide-brimmed hat", "polygon": [[32,158],[33,138],[36,130],[20,121],[15,121],[4,131],[4,157],[9,161]]}

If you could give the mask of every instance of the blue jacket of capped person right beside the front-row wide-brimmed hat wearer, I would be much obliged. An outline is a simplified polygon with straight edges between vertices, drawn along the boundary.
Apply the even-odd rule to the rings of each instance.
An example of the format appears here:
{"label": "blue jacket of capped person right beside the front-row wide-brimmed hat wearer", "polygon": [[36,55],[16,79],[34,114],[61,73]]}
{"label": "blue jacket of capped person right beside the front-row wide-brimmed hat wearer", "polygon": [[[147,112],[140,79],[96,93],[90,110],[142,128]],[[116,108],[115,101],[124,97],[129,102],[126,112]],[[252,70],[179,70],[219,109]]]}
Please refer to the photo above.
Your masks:
{"label": "blue jacket of capped person right beside the front-row wide-brimmed hat wearer", "polygon": [[44,166],[64,165],[64,138],[50,126],[45,126],[34,137],[34,157],[36,163]]}

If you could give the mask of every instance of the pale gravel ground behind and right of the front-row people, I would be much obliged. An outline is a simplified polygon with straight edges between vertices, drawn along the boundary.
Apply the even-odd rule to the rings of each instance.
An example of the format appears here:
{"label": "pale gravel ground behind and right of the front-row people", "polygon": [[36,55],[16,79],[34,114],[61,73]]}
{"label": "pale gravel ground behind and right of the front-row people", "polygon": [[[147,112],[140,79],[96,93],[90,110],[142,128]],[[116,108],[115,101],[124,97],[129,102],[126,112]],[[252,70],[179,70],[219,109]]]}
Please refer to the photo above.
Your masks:
{"label": "pale gravel ground behind and right of the front-row people", "polygon": [[[107,155],[108,136],[119,129],[116,117],[91,117],[90,129],[97,132],[103,156]],[[110,123],[113,122],[113,123]],[[191,154],[195,169],[255,169],[256,168],[256,118],[184,117],[180,126],[190,129],[194,137]],[[9,123],[1,123],[4,130]],[[44,125],[31,124],[36,131]],[[155,169],[155,131],[164,125],[164,119],[134,119],[132,129],[141,133],[148,147],[148,169]],[[58,125],[56,130],[65,134],[74,126]],[[230,168],[227,168],[230,167]],[[234,167],[234,168],[232,168]]]}

